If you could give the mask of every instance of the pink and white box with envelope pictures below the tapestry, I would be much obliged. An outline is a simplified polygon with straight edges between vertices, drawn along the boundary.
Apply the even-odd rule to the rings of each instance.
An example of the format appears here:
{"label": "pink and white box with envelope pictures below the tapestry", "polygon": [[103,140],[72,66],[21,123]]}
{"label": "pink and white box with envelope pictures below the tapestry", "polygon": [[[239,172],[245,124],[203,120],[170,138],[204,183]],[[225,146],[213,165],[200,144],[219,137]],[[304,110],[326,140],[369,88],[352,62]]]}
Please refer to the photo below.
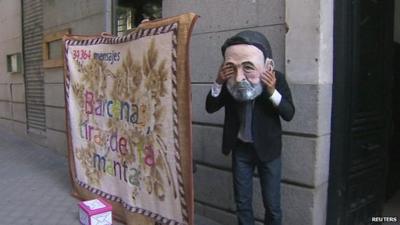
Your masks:
{"label": "pink and white box with envelope pictures below the tapestry", "polygon": [[112,206],[102,199],[79,202],[79,221],[83,225],[112,225]]}

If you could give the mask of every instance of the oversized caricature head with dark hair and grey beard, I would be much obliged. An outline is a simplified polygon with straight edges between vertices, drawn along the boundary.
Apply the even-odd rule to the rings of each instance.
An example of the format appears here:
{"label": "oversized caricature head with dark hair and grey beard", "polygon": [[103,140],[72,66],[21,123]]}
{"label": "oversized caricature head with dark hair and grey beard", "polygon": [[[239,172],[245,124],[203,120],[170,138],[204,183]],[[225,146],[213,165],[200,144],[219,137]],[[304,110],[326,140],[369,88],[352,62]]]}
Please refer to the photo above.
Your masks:
{"label": "oversized caricature head with dark hair and grey beard", "polygon": [[242,31],[227,39],[221,47],[224,64],[235,73],[227,81],[229,93],[237,101],[249,101],[261,94],[261,74],[272,69],[272,52],[267,38],[256,31]]}

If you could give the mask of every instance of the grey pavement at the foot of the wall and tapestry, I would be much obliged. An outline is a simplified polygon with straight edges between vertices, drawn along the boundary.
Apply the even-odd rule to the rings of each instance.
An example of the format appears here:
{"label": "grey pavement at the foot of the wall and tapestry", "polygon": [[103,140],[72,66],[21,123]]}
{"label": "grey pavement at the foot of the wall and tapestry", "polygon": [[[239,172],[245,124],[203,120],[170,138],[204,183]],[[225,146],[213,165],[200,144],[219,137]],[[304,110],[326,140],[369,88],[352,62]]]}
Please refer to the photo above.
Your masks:
{"label": "grey pavement at the foot of the wall and tapestry", "polygon": [[70,188],[65,156],[0,128],[0,225],[79,225]]}

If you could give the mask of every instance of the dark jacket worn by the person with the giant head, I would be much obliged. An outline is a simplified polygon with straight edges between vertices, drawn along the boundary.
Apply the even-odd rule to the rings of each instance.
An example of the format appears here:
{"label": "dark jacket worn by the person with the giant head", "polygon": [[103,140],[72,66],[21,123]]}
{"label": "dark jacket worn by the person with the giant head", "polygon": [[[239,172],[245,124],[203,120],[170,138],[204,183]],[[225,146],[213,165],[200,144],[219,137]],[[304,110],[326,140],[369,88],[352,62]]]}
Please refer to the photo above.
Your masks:
{"label": "dark jacket worn by the person with the giant head", "polygon": [[[294,116],[294,105],[285,76],[276,71],[276,89],[282,95],[279,106],[275,107],[264,88],[262,94],[255,99],[253,110],[254,148],[262,161],[270,161],[281,155],[282,127],[279,116],[290,121]],[[225,106],[225,120],[222,140],[222,152],[227,155],[237,143],[239,132],[239,114],[237,101],[231,96],[224,84],[218,97],[211,91],[207,95],[206,110],[214,113]]]}

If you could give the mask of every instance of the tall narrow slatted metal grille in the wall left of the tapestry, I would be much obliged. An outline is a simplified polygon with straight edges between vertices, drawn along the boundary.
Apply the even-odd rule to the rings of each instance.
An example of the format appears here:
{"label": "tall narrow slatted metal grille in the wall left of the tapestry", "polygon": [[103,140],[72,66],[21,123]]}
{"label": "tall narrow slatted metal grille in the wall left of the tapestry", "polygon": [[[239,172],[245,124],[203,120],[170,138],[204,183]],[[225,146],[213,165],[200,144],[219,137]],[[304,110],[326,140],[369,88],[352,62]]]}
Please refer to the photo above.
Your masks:
{"label": "tall narrow slatted metal grille in the wall left of the tapestry", "polygon": [[22,1],[26,117],[29,132],[46,130],[42,70],[43,7],[42,0]]}

